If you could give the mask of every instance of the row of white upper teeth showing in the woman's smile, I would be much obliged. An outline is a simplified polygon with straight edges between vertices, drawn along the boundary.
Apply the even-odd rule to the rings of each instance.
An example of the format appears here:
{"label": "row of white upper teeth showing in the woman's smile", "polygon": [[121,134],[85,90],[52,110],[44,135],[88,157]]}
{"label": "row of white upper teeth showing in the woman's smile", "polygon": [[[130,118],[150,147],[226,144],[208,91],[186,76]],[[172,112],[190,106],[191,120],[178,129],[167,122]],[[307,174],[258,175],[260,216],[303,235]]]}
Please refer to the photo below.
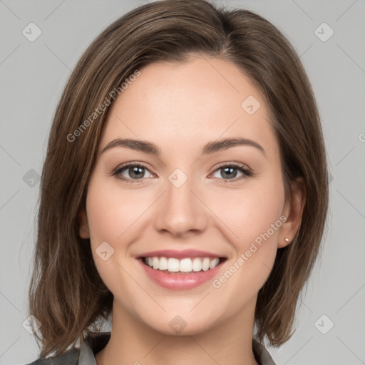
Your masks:
{"label": "row of white upper teeth showing in the woman's smile", "polygon": [[200,272],[213,269],[220,263],[217,257],[195,257],[194,259],[175,259],[173,257],[145,257],[145,264],[155,270],[168,270],[168,272]]}

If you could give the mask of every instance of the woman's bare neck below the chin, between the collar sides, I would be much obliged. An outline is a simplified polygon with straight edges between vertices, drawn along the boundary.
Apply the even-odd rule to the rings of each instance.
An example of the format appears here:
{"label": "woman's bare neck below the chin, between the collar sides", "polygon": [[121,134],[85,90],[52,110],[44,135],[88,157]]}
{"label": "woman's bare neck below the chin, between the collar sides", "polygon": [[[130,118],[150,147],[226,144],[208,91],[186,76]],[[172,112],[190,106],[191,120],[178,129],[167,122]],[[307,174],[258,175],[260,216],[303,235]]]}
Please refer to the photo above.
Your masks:
{"label": "woman's bare neck below the chin, between the collar sides", "polygon": [[[256,298],[255,298],[256,299]],[[193,334],[163,334],[113,303],[112,331],[96,354],[98,365],[258,365],[252,351],[253,305],[235,317]]]}

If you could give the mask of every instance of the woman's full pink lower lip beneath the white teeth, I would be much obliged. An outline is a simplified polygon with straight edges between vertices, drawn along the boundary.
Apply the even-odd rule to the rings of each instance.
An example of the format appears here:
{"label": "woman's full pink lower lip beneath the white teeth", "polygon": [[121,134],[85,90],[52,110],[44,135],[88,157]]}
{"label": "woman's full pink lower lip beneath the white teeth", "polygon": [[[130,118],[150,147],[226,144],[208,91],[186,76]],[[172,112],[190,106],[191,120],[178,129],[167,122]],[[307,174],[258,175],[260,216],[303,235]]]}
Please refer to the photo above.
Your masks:
{"label": "woman's full pink lower lip beneath the white teeth", "polygon": [[143,259],[138,259],[138,261],[150,279],[153,279],[153,281],[159,284],[161,287],[173,290],[187,290],[199,287],[200,285],[215,277],[224,263],[220,262],[213,269],[195,272],[194,274],[170,274],[153,269],[152,267],[146,265],[143,262]]}

